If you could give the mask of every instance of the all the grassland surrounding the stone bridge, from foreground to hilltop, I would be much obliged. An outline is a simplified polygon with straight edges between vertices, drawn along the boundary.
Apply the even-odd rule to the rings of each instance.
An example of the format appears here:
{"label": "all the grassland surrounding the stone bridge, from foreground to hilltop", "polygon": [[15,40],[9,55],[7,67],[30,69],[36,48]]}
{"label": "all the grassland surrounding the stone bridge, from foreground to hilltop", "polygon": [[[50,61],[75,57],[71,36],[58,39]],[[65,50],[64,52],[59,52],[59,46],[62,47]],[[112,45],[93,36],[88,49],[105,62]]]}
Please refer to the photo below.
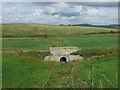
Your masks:
{"label": "all the grassland surrounding the stone bridge, from foreground to hilltop", "polygon": [[[117,87],[118,35],[81,35],[117,29],[26,23],[2,27],[3,88]],[[50,52],[44,50],[50,46],[77,46],[82,50],[72,54],[84,60],[45,62],[43,58]]]}

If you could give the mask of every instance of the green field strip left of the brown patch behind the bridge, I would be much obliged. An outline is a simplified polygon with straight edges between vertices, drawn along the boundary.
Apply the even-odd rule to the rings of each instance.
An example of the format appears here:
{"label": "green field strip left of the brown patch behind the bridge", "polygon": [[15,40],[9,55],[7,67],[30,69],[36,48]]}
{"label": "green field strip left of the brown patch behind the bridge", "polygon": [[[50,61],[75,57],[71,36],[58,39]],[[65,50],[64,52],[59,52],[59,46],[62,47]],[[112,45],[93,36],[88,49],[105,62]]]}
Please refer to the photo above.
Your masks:
{"label": "green field strip left of the brown patch behind the bridge", "polygon": [[2,48],[7,49],[49,49],[54,41],[49,39],[3,39]]}

